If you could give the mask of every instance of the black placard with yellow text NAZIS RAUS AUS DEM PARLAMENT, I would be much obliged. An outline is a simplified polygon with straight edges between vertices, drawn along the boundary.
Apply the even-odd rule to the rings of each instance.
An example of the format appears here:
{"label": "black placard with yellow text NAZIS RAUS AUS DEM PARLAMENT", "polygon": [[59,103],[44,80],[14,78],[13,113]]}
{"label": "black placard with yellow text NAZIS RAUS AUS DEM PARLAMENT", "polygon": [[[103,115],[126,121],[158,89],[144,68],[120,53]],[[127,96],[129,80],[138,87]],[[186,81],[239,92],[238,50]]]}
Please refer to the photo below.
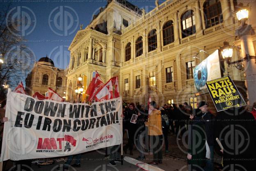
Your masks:
{"label": "black placard with yellow text NAZIS RAUS AUS DEM PARLAMENT", "polygon": [[235,87],[230,76],[218,78],[206,82],[206,87],[210,93],[217,112],[232,107],[240,107],[246,105],[240,92]]}

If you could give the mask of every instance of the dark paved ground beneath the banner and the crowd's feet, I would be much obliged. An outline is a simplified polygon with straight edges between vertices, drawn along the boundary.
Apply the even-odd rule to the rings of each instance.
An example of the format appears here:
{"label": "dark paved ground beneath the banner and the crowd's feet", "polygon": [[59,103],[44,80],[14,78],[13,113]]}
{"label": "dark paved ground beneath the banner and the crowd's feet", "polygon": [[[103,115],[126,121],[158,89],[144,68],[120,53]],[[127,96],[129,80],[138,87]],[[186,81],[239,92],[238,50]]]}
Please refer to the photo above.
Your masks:
{"label": "dark paved ground beneath the banner and the crowd's feet", "polygon": [[[125,143],[126,141],[124,141]],[[176,137],[174,135],[169,136],[169,153],[163,152],[163,161],[162,164],[158,164],[157,167],[165,170],[165,171],[187,171],[187,160],[186,154],[182,151],[184,146],[182,144],[182,140],[176,141]],[[105,150],[101,149],[98,151],[91,151],[88,153],[82,154],[82,161],[80,168],[69,167],[69,171],[142,171],[139,167],[130,164],[128,162],[117,163],[116,166],[112,166],[109,164],[109,160],[105,159]],[[128,150],[129,153],[129,150]],[[134,151],[134,155],[124,155],[136,158],[139,155],[137,150]],[[153,155],[146,155],[146,160],[144,162],[150,162]],[[215,162],[220,163],[220,156],[215,155]],[[72,162],[72,164],[74,161]],[[32,171],[57,171],[57,167],[62,166],[64,161],[56,162],[52,165],[43,166],[39,168],[35,164],[32,164]],[[8,171],[12,166],[12,162],[7,162],[4,164],[4,170]],[[215,164],[217,166],[217,164]],[[18,169],[21,171],[21,169]],[[62,169],[63,170],[63,169]],[[216,171],[219,169],[215,168]]]}

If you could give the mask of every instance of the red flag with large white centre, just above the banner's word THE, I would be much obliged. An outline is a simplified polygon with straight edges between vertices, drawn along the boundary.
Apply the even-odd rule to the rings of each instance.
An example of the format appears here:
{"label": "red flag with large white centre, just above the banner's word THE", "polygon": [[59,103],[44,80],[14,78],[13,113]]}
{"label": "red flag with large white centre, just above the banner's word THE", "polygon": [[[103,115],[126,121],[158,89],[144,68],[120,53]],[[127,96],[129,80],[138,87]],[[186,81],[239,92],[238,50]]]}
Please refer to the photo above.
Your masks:
{"label": "red flag with large white centre, just above the banner's word THE", "polygon": [[101,89],[98,90],[95,94],[95,100],[96,102],[102,101],[102,100],[109,100],[113,98],[113,89],[112,89],[112,81],[111,79],[103,86]]}

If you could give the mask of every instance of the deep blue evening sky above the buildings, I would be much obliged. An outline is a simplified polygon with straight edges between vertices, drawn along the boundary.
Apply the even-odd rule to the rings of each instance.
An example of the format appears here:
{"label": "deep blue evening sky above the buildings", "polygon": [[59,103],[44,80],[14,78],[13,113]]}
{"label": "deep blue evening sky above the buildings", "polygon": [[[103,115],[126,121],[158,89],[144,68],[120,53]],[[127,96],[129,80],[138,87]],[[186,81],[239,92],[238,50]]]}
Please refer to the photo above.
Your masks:
{"label": "deep blue evening sky above the buildings", "polygon": [[[99,8],[107,4],[106,0],[0,0],[2,7],[9,2],[9,15],[13,18],[25,17],[32,22],[30,27],[21,24],[21,29],[25,30],[21,34],[27,41],[25,44],[34,52],[35,60],[47,54],[59,68],[66,68],[69,64],[68,47],[80,29],[80,24],[85,28],[92,16],[98,14]],[[155,7],[154,0],[129,2],[146,11]],[[63,16],[68,20],[63,19]],[[65,25],[68,28],[66,30],[62,29]]]}

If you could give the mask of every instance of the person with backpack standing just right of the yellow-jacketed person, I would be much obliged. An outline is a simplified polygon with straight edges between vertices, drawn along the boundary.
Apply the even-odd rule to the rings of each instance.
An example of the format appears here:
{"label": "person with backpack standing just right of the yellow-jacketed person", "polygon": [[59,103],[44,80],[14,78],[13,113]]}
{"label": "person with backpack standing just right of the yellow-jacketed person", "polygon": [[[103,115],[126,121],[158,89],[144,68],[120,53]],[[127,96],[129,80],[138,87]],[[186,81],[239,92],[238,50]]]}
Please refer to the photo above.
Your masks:
{"label": "person with backpack standing just right of the yellow-jacketed person", "polygon": [[164,139],[165,139],[165,153],[169,153],[169,151],[168,151],[168,130],[169,130],[169,126],[170,126],[169,118],[168,118],[166,110],[163,107],[160,107],[159,110],[161,111],[162,132],[163,132]]}

